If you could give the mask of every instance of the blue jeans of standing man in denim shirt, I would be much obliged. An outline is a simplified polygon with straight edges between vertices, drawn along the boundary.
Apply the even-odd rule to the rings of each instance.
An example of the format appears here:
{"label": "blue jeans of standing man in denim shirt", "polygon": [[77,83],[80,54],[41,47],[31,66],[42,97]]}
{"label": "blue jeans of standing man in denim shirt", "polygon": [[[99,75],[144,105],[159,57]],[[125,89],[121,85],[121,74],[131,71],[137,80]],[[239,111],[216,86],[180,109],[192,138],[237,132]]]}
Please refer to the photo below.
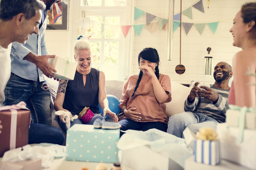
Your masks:
{"label": "blue jeans of standing man in denim shirt", "polygon": [[16,105],[23,101],[31,111],[33,123],[52,125],[51,93],[46,81],[35,82],[11,73],[4,93],[3,105]]}

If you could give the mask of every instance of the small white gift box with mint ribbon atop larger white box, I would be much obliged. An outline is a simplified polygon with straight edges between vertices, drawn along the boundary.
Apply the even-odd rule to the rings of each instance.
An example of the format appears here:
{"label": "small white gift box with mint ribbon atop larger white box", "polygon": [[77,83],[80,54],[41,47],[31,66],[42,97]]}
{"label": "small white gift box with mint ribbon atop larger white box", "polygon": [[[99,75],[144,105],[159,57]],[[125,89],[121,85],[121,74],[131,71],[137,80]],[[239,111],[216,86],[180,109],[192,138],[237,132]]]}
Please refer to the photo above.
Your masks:
{"label": "small white gift box with mint ribbon atop larger white box", "polygon": [[[226,123],[229,127],[238,127],[239,126],[239,114],[238,110],[227,110],[226,112]],[[246,112],[245,113],[245,129],[256,129],[256,113],[255,112]]]}

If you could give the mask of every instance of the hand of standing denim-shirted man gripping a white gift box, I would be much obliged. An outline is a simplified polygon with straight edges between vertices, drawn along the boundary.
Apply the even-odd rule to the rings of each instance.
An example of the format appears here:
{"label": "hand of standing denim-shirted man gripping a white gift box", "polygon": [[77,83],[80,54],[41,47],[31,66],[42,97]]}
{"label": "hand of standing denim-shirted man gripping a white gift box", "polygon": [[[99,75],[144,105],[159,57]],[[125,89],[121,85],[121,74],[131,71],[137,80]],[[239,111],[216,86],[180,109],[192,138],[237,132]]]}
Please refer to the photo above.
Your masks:
{"label": "hand of standing denim-shirted man gripping a white gift box", "polygon": [[46,77],[55,77],[53,72],[57,72],[48,62],[49,58],[54,58],[55,55],[43,55],[43,56],[38,56],[37,62],[35,62],[35,65],[43,72]]}

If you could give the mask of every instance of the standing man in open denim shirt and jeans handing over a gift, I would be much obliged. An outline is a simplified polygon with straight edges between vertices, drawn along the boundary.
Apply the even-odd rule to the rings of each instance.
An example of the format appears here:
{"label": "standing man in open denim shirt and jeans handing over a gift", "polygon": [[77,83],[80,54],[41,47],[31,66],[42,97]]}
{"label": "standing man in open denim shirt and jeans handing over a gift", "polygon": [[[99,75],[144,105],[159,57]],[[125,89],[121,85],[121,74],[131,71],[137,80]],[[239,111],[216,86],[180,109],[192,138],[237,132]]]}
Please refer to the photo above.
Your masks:
{"label": "standing man in open denim shirt and jeans handing over a gift", "polygon": [[26,102],[31,111],[33,123],[45,125],[52,124],[51,96],[44,74],[47,77],[55,77],[49,65],[48,59],[55,55],[48,55],[44,33],[47,27],[45,20],[47,10],[53,3],[61,0],[42,0],[46,10],[42,13],[42,21],[39,26],[39,34],[32,34],[25,45],[13,42],[11,50],[11,77],[5,88],[5,101],[3,105],[13,105],[20,101]]}

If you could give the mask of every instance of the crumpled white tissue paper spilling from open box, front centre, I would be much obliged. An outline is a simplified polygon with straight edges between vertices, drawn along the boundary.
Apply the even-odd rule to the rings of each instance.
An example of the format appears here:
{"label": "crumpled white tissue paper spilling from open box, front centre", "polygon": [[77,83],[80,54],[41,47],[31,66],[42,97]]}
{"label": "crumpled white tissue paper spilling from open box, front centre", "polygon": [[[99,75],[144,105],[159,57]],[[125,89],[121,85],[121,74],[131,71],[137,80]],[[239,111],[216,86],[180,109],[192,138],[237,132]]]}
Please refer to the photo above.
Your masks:
{"label": "crumpled white tissue paper spilling from open box, front centre", "polygon": [[119,150],[148,146],[154,152],[172,159],[181,167],[184,167],[185,160],[193,154],[193,150],[187,146],[185,139],[157,129],[126,130],[125,132],[117,143]]}

